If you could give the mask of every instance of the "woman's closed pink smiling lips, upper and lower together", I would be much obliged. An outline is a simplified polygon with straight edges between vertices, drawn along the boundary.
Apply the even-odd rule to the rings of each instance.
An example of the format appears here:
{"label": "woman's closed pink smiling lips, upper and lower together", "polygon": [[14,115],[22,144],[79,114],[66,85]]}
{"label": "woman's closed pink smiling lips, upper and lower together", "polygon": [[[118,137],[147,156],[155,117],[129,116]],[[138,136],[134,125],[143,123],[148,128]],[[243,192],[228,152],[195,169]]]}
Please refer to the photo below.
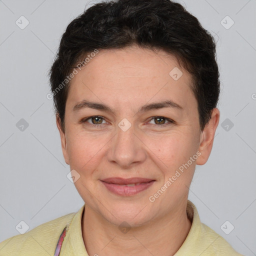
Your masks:
{"label": "woman's closed pink smiling lips, upper and lower together", "polygon": [[105,187],[118,195],[129,196],[137,194],[140,191],[147,189],[153,184],[154,179],[150,178],[120,178],[120,177],[110,177],[100,180]]}

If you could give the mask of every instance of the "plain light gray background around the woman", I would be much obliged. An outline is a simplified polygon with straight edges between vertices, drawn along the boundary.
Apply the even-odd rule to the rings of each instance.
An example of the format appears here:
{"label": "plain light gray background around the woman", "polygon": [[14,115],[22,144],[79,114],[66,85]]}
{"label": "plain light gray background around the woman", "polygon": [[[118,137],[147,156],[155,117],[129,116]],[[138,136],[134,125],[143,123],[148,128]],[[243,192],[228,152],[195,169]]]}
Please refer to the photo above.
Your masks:
{"label": "plain light gray background around the woman", "polygon": [[[18,234],[21,220],[31,230],[83,205],[66,177],[46,74],[67,24],[94,2],[0,0],[0,241]],[[217,39],[221,78],[213,149],[196,167],[189,199],[202,222],[240,253],[256,255],[256,1],[180,3]],[[24,29],[15,24],[21,15]],[[23,131],[21,118],[29,124]],[[229,234],[221,229],[226,220]]]}

